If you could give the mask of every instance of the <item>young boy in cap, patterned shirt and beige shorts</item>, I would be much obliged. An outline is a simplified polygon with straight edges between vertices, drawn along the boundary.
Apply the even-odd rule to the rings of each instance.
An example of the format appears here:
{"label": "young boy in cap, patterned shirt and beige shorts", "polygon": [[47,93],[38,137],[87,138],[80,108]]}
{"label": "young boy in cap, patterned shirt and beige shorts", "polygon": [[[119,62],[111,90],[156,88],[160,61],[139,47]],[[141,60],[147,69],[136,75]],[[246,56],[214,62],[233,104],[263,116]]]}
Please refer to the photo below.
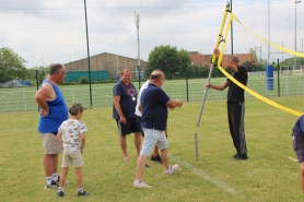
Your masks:
{"label": "young boy in cap, patterned shirt and beige shorts", "polygon": [[78,195],[89,195],[89,192],[83,190],[82,186],[82,170],[81,166],[84,165],[82,154],[85,143],[85,132],[87,131],[85,124],[80,121],[83,110],[86,109],[79,103],[73,103],[69,112],[71,117],[63,121],[58,129],[57,139],[63,148],[62,154],[62,170],[59,180],[58,197],[65,197],[66,177],[69,173],[69,166],[74,163]]}

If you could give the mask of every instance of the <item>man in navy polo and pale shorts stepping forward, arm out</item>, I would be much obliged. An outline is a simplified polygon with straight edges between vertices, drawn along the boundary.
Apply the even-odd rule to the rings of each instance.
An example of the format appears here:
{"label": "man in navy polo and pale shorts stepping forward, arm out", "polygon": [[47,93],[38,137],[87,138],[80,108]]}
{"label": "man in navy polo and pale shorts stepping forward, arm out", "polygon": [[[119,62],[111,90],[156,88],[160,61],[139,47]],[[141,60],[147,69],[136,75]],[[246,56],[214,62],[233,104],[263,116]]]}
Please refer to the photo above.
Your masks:
{"label": "man in navy polo and pale shorts stepping forward, arm out", "polygon": [[175,109],[182,107],[183,102],[171,99],[161,88],[165,74],[161,70],[154,70],[150,75],[150,83],[142,92],[139,109],[142,111],[141,127],[144,132],[144,141],[137,162],[137,175],[135,187],[151,187],[142,181],[142,175],[147,163],[147,157],[152,152],[154,145],[161,151],[163,164],[167,175],[172,175],[179,165],[173,166],[168,163],[168,141],[165,136],[167,122],[167,108]]}

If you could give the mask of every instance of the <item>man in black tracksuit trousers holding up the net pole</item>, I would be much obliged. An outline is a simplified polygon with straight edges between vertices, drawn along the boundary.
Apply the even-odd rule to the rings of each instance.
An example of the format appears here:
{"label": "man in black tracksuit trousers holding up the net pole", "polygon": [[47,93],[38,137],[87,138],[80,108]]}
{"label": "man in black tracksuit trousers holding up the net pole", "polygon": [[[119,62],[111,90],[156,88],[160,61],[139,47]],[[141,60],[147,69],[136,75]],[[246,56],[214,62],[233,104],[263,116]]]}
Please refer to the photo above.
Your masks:
{"label": "man in black tracksuit trousers holding up the net pole", "polygon": [[[220,54],[219,49],[214,49],[214,54]],[[227,59],[223,57],[224,66],[232,70],[232,76],[243,85],[247,84],[247,70],[243,66],[238,66],[239,60],[235,56]],[[227,118],[230,133],[233,140],[236,154],[233,156],[235,159],[247,159],[247,147],[244,132],[244,115],[245,115],[245,98],[244,90],[238,87],[229,79],[222,85],[213,85],[211,83],[206,85],[209,88],[223,91],[229,86],[227,91]]]}

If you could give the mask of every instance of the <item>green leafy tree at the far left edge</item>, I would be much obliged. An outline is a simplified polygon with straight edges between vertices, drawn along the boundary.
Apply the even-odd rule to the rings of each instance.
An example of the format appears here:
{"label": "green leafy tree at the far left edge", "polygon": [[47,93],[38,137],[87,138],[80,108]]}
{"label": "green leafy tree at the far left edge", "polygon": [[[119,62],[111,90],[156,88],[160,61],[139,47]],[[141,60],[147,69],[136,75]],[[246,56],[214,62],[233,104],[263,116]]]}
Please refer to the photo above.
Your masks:
{"label": "green leafy tree at the far left edge", "polygon": [[26,61],[10,48],[0,48],[0,83],[11,80],[24,80]]}

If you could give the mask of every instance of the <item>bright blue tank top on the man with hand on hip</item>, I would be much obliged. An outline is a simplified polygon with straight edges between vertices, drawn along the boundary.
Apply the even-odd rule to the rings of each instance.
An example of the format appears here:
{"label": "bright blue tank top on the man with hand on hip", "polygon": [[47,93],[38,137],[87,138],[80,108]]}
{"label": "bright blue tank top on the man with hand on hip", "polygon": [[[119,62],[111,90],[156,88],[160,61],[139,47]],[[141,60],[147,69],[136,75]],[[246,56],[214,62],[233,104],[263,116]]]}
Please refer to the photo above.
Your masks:
{"label": "bright blue tank top on the man with hand on hip", "polygon": [[46,102],[49,115],[46,117],[40,115],[38,131],[40,133],[57,132],[60,124],[68,119],[68,107],[58,86],[54,85],[50,81],[44,81],[43,83],[50,83],[52,85],[56,99]]}

